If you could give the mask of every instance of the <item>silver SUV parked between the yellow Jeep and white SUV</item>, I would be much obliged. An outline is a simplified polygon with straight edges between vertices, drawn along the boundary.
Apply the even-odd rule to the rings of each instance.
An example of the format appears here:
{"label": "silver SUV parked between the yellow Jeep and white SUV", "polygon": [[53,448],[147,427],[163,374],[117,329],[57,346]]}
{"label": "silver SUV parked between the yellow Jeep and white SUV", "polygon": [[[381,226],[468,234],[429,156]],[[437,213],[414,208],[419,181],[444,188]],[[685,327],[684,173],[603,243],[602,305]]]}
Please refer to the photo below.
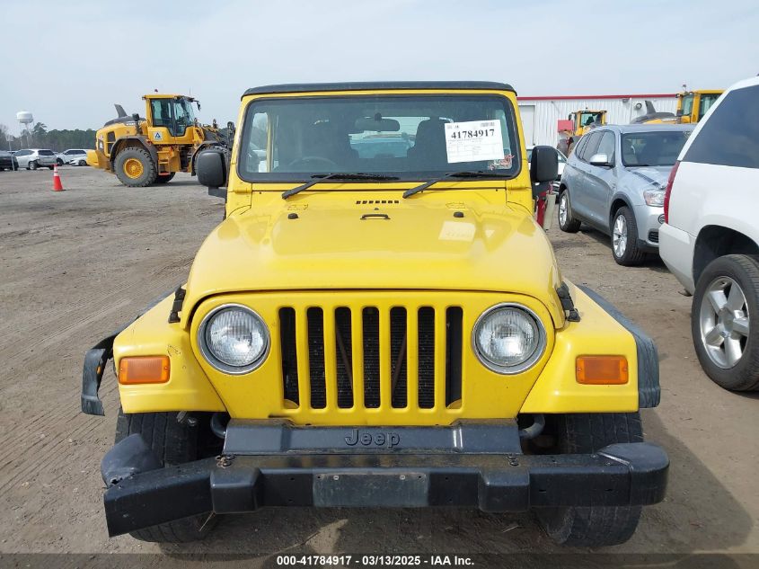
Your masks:
{"label": "silver SUV parked between the yellow Jeep and white SUV", "polygon": [[569,156],[559,186],[559,227],[581,223],[612,237],[612,255],[637,265],[658,252],[666,180],[695,125],[605,126]]}

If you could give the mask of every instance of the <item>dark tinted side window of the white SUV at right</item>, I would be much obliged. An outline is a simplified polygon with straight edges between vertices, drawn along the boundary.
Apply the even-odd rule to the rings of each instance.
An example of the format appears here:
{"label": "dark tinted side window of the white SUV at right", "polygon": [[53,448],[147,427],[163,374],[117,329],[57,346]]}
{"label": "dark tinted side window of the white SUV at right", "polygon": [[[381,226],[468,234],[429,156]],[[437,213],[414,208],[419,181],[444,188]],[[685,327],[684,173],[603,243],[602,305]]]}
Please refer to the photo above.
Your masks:
{"label": "dark tinted side window of the white SUV at right", "polygon": [[685,162],[759,168],[759,85],[728,93],[702,125]]}

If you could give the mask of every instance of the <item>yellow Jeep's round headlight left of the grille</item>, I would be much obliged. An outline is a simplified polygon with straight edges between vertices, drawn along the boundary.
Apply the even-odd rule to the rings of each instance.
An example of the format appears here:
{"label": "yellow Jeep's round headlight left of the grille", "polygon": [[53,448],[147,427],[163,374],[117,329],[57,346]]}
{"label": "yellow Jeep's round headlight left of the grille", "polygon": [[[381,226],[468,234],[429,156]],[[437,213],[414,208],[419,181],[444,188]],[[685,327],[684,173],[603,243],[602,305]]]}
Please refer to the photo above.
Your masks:
{"label": "yellow Jeep's round headlight left of the grille", "polygon": [[269,330],[250,308],[218,307],[199,329],[199,345],[208,363],[226,373],[256,369],[269,351]]}

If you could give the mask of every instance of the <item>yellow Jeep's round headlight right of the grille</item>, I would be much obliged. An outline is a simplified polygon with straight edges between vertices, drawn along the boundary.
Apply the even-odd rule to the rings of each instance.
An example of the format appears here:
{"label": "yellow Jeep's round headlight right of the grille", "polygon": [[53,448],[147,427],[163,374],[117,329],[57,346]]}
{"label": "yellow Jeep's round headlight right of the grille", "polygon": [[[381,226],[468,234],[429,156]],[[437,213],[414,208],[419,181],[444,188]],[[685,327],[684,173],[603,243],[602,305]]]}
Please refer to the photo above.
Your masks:
{"label": "yellow Jeep's round headlight right of the grille", "polygon": [[472,331],[474,352],[488,368],[503,374],[524,371],[545,350],[545,330],[525,307],[499,305],[486,310]]}

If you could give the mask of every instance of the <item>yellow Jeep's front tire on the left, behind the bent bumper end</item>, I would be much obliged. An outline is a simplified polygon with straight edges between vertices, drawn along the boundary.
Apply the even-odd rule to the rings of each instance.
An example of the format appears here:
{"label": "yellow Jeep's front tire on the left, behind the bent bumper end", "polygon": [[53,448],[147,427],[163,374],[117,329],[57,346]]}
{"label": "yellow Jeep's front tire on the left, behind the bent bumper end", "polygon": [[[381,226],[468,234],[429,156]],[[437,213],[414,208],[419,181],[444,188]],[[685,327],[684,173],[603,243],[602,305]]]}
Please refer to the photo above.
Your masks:
{"label": "yellow Jeep's front tire on the left, behind the bent bumper end", "polygon": [[[131,434],[139,434],[161,459],[164,467],[191,462],[200,458],[199,422],[177,422],[177,413],[122,413],[116,421],[116,442]],[[205,538],[216,525],[216,517],[208,514],[168,521],[146,529],[130,531],[141,541],[185,543]]]}

